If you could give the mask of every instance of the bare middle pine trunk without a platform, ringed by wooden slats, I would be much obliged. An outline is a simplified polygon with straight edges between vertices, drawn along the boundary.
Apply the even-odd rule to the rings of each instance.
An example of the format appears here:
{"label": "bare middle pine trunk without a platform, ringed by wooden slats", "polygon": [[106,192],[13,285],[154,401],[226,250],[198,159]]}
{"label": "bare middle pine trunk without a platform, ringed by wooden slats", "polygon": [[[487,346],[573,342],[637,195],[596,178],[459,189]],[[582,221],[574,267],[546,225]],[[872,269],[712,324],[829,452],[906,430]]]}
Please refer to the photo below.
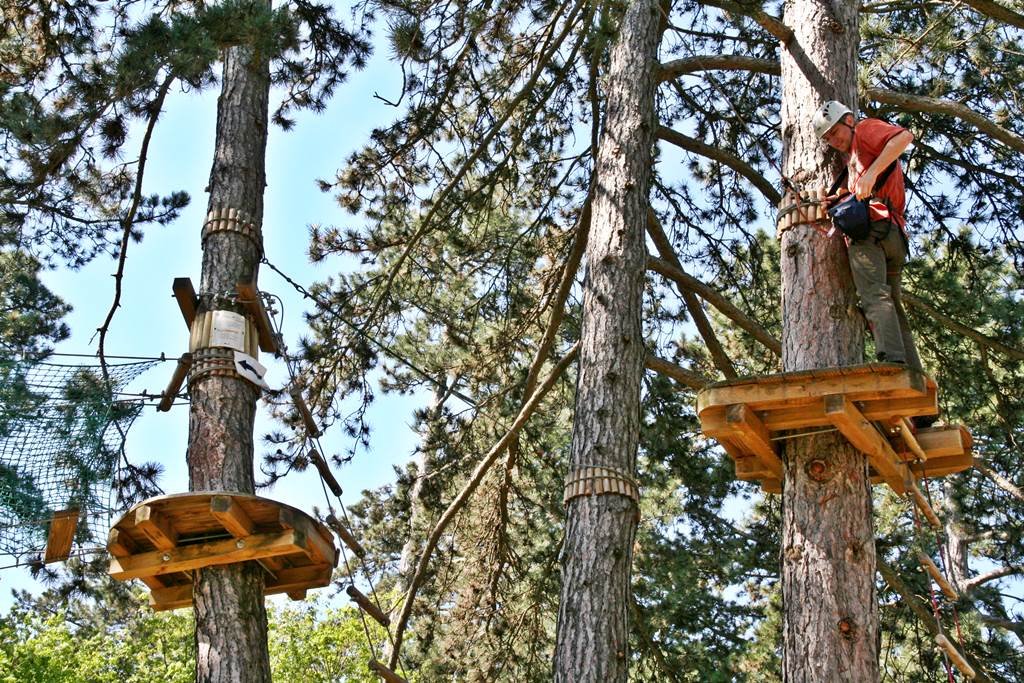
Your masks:
{"label": "bare middle pine trunk without a platform, ringed by wooden slats", "polygon": [[[636,470],[658,17],[656,3],[630,3],[611,51],[607,119],[587,247],[570,472],[601,466],[633,476]],[[583,496],[569,502],[555,681],[627,680],[636,524],[637,507],[627,497]]]}

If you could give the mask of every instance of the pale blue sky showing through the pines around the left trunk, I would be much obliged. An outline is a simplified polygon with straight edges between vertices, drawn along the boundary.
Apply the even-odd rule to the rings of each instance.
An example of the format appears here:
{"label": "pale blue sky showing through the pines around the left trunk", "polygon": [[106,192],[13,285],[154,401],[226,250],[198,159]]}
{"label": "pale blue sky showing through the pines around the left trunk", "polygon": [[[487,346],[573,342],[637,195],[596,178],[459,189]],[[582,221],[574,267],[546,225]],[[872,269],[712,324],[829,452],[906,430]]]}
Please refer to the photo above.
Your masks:
{"label": "pale blue sky showing through the pines around the left trunk", "polygon": [[[317,178],[332,179],[346,157],[361,146],[375,126],[395,118],[397,112],[374,97],[378,92],[398,99],[401,75],[397,65],[388,61],[386,48],[378,49],[367,69],[353,73],[337,90],[327,112],[302,113],[297,125],[285,132],[271,126],[267,148],[267,187],[263,238],[267,258],[289,276],[304,286],[338,271],[338,261],[312,265],[308,262],[308,226],[352,224],[358,220],[343,212],[330,194],[315,186]],[[129,247],[121,308],[108,336],[109,354],[175,358],[187,350],[188,333],[171,297],[175,278],[188,276],[198,286],[202,262],[200,228],[206,212],[204,193],[213,158],[216,100],[219,88],[204,93],[175,91],[169,95],[165,114],[157,126],[151,144],[144,191],[167,195],[184,189],[191,197],[190,206],[167,227],[150,226],[140,244]],[[271,95],[271,108],[275,100]],[[136,139],[138,136],[135,136]],[[137,148],[128,146],[127,150]],[[126,158],[128,158],[126,156]],[[94,353],[94,332],[106,315],[114,296],[116,262],[100,258],[81,270],[58,269],[44,274],[46,284],[74,306],[67,318],[72,337],[56,347],[58,352]],[[302,312],[307,305],[286,282],[267,268],[259,278],[263,291],[284,300],[286,343],[297,347],[305,333]],[[87,358],[55,358],[56,362],[88,362]],[[283,364],[267,354],[260,360],[268,367],[267,381],[283,386],[287,372]],[[173,364],[158,366],[132,385],[133,391],[146,389],[159,393],[167,384]],[[417,436],[412,430],[413,410],[418,396],[380,397],[370,412],[375,427],[369,453],[335,475],[345,490],[346,503],[354,502],[361,490],[393,480],[392,466],[410,460]],[[265,415],[257,415],[257,439],[272,428]],[[188,409],[175,407],[170,413],[146,408],[129,433],[126,452],[133,462],[158,461],[166,468],[160,483],[167,493],[187,490],[184,454],[188,430]],[[340,429],[322,438],[329,453],[344,450],[348,442]],[[257,463],[260,444],[257,441]],[[259,495],[311,510],[324,507],[325,499],[318,477],[312,468],[293,473],[273,488]],[[0,565],[10,564],[9,556],[0,556]],[[0,613],[9,607],[10,590],[38,590],[28,571],[20,568],[0,571]]]}

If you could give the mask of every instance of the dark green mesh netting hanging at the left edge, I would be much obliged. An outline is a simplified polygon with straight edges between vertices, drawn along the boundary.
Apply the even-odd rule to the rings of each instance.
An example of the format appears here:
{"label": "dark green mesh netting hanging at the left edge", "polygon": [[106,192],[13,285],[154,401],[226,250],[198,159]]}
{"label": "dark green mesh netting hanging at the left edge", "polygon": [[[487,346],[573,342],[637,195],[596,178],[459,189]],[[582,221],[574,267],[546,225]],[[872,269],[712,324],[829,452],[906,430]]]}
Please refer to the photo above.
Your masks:
{"label": "dark green mesh netting hanging at the left edge", "polygon": [[125,435],[142,410],[120,390],[157,360],[96,366],[0,361],[0,553],[46,546],[53,512],[78,509],[79,547],[105,543]]}

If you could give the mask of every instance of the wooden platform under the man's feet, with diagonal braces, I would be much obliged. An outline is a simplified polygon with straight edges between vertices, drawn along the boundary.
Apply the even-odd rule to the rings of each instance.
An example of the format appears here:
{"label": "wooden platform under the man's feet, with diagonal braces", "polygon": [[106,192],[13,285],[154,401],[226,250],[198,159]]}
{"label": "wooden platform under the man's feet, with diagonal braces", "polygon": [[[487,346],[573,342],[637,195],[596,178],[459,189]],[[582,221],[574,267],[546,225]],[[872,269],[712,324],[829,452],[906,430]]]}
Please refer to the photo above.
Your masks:
{"label": "wooden platform under the man's feet, with diagonal braces", "polygon": [[913,478],[971,467],[965,427],[910,425],[909,418],[938,414],[937,390],[930,377],[901,365],[826,368],[713,384],[697,394],[697,416],[732,457],[736,478],[760,481],[766,492],[781,490],[780,442],[838,429],[867,456],[872,482],[904,494]]}

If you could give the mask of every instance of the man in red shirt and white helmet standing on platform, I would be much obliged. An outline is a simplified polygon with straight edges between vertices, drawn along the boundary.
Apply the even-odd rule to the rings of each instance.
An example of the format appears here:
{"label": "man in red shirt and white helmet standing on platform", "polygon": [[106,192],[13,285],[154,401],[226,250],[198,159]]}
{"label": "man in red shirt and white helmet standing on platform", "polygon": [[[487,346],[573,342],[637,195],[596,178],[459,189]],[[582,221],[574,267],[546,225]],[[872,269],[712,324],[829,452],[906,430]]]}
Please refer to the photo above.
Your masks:
{"label": "man in red shirt and white helmet standing on platform", "polygon": [[[878,119],[855,122],[853,112],[827,101],[814,115],[814,131],[846,161],[849,191],[871,198],[870,234],[849,244],[850,270],[864,315],[874,335],[878,359],[922,370],[900,299],[900,275],[907,257],[906,194],[899,156],[913,141],[910,131]],[[886,168],[895,168],[876,187]]]}

